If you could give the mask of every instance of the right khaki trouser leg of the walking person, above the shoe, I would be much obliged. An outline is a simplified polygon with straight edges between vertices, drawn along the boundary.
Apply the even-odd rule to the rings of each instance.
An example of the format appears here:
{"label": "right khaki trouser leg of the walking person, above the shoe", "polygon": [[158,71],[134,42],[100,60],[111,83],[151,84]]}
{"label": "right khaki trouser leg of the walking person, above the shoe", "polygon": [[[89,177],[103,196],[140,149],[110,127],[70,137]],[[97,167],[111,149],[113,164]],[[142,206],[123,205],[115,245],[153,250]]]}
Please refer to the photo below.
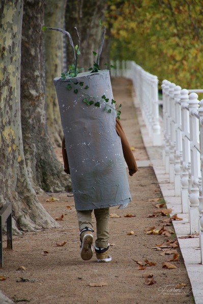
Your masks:
{"label": "right khaki trouser leg of the walking person, above the shoe", "polygon": [[107,248],[109,242],[109,208],[94,209],[97,222],[97,240],[95,246]]}

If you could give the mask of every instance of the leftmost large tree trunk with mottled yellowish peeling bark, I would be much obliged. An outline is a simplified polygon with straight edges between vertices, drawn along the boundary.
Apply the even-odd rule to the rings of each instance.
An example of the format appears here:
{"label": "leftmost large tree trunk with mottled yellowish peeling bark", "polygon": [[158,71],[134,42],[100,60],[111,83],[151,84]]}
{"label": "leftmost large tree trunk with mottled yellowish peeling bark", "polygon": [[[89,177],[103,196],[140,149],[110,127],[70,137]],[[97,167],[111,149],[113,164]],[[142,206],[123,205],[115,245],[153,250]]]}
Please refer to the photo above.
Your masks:
{"label": "leftmost large tree trunk with mottled yellowish peeling bark", "polygon": [[0,19],[0,201],[13,205],[14,232],[56,227],[27,176],[20,122],[23,1],[2,1]]}

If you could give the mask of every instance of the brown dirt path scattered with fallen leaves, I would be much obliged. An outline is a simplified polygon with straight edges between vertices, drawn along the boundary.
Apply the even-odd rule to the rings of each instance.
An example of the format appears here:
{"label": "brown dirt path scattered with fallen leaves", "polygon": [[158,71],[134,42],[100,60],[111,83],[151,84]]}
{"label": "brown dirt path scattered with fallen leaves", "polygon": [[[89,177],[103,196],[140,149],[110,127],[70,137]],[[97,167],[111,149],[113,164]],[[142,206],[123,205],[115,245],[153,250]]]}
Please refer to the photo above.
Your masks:
{"label": "brown dirt path scattered with fallen leaves", "polygon": [[[120,78],[113,80],[112,86],[114,99],[122,103],[121,122],[134,147],[133,153],[137,160],[147,160],[137,122],[140,113],[134,108],[131,97],[131,83]],[[0,271],[0,276],[6,278],[0,281],[4,294],[16,302],[24,299],[21,302],[27,300],[31,304],[194,303],[176,235],[146,233],[151,229],[160,231],[163,220],[169,219],[161,213],[157,213],[157,217],[153,215],[160,211],[155,206],[163,202],[153,168],[139,167],[138,172],[129,177],[129,183],[133,197],[130,205],[124,211],[117,207],[110,210],[112,261],[109,263],[97,263],[95,255],[90,261],[80,258],[71,193],[39,195],[41,204],[53,218],[64,217],[58,221],[59,228],[13,237],[13,251],[4,249],[4,268]],[[46,201],[51,196],[59,200]],[[131,217],[125,217],[127,214]],[[164,228],[173,230],[172,225]],[[165,245],[160,247],[161,244]],[[177,250],[176,255],[174,250]],[[171,254],[165,254],[166,251]],[[176,268],[162,267],[163,262],[173,258],[178,259],[170,261]]]}

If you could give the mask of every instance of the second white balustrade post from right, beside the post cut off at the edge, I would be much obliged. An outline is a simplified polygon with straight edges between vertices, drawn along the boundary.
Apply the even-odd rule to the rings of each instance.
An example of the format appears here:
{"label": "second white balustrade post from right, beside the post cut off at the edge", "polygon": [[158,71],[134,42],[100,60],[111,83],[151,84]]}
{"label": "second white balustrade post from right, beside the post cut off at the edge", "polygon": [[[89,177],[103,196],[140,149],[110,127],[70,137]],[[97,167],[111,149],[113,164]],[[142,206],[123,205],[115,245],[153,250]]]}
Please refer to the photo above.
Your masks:
{"label": "second white balustrade post from right, beside the post cut off at the edge", "polygon": [[198,177],[200,175],[200,154],[199,154],[199,120],[197,109],[199,107],[198,95],[191,93],[189,95],[189,113],[190,113],[190,153],[191,153],[191,193],[189,194],[190,208],[190,233],[199,231],[199,188]]}

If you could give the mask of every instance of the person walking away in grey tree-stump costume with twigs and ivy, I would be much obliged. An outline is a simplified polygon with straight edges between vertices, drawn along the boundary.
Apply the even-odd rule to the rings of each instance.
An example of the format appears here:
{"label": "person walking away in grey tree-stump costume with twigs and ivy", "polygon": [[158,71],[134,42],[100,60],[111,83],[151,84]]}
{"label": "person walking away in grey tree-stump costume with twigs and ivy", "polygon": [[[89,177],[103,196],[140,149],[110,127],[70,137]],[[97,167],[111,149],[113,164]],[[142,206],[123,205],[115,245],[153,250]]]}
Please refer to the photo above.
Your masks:
{"label": "person walking away in grey tree-stump costume with twigs and ivy", "polygon": [[[74,49],[78,52],[78,47]],[[100,46],[100,53],[101,49]],[[54,85],[64,131],[65,172],[71,175],[78,216],[81,258],[89,260],[93,255],[94,210],[97,260],[108,262],[111,260],[109,208],[124,209],[129,204],[131,194],[125,160],[130,176],[137,166],[117,118],[109,71],[101,71],[97,61],[92,72],[71,76],[69,73],[55,78]]]}

